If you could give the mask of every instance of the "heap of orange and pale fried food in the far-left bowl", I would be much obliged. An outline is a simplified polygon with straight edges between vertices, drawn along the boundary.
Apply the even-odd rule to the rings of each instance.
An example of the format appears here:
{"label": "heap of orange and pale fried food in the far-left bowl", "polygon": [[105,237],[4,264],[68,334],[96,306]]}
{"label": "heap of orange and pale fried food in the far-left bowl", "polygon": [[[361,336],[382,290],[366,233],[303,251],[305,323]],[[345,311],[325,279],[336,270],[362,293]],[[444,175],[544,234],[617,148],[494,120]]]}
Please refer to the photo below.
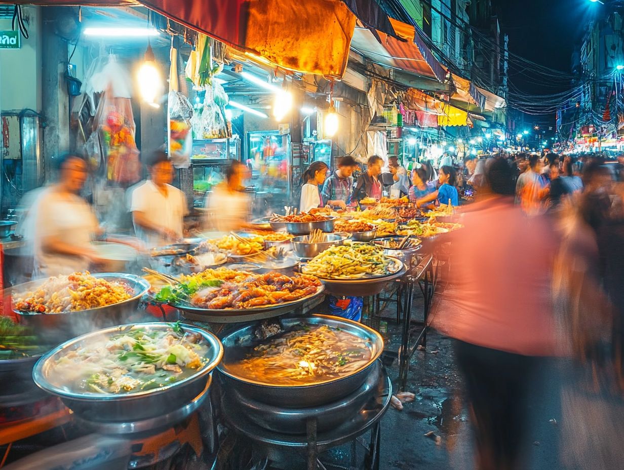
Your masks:
{"label": "heap of orange and pale fried food in the far-left bowl", "polygon": [[35,290],[16,295],[16,310],[61,313],[112,305],[132,297],[123,282],[93,277],[88,271],[48,278]]}

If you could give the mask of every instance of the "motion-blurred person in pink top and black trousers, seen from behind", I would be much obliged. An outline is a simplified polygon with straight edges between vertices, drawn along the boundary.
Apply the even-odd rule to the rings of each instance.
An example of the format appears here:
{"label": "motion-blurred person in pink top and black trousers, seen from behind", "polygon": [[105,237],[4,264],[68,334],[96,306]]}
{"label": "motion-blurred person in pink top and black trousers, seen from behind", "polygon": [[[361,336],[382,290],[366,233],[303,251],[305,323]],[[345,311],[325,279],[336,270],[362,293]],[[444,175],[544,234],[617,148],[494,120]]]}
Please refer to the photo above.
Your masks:
{"label": "motion-blurred person in pink top and black trousers, seen from behind", "polygon": [[555,236],[514,206],[504,159],[487,171],[480,202],[449,234],[449,286],[434,326],[456,338],[477,438],[479,470],[522,467],[525,399],[540,356],[555,354],[550,285]]}

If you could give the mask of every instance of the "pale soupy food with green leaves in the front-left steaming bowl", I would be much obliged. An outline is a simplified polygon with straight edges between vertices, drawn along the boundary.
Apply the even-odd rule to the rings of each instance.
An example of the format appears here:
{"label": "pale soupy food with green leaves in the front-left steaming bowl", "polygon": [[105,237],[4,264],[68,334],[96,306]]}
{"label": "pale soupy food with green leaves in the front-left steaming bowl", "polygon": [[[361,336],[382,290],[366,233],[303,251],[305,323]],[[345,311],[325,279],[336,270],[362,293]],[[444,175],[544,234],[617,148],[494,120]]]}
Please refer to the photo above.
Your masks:
{"label": "pale soupy food with green leaves in the front-left steaming bowl", "polygon": [[52,373],[79,393],[136,393],[192,376],[207,362],[207,353],[204,338],[185,333],[178,323],[134,328],[67,351]]}

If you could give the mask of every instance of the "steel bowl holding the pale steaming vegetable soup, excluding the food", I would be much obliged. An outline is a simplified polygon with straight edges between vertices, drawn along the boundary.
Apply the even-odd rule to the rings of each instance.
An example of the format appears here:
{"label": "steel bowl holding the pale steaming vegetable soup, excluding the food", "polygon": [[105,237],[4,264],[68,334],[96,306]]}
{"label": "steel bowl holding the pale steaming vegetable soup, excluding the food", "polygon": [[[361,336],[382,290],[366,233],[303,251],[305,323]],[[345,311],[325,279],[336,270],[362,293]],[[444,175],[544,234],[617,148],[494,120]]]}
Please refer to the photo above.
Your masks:
{"label": "steel bowl holding the pale steaming vegetable soup, excluding the food", "polygon": [[79,336],[57,346],[39,359],[32,370],[32,379],[40,388],[59,396],[67,408],[87,421],[109,423],[139,421],[162,416],[192,401],[206,387],[208,374],[223,356],[223,346],[217,336],[201,328],[182,325],[185,332],[202,335],[207,342],[209,346],[207,362],[192,376],[152,390],[111,394],[77,392],[63,383],[60,376],[54,374],[54,365],[70,351],[83,348],[95,340],[102,340],[125,330],[135,328],[164,330],[169,327],[168,323],[119,325]]}

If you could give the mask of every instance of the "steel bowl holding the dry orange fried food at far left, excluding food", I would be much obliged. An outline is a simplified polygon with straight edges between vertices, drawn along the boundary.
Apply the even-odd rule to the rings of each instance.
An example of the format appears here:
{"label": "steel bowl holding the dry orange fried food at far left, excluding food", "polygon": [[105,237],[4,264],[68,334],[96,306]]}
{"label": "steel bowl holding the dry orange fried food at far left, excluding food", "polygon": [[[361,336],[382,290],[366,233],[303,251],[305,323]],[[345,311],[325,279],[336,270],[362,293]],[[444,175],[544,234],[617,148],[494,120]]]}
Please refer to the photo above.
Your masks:
{"label": "steel bowl holding the dry orange fried food at far left, excluding food", "polygon": [[[128,300],[105,305],[89,310],[67,311],[62,313],[31,313],[14,310],[17,320],[26,326],[31,326],[42,340],[51,344],[58,344],[75,336],[84,335],[90,331],[105,328],[106,326],[119,325],[135,313],[140,298],[147,293],[150,283],[142,277],[126,273],[94,273],[96,278],[104,278],[107,281],[124,282],[132,288],[132,296]],[[11,296],[12,299],[22,294],[35,290],[46,279],[19,284],[4,290],[4,298]]]}

